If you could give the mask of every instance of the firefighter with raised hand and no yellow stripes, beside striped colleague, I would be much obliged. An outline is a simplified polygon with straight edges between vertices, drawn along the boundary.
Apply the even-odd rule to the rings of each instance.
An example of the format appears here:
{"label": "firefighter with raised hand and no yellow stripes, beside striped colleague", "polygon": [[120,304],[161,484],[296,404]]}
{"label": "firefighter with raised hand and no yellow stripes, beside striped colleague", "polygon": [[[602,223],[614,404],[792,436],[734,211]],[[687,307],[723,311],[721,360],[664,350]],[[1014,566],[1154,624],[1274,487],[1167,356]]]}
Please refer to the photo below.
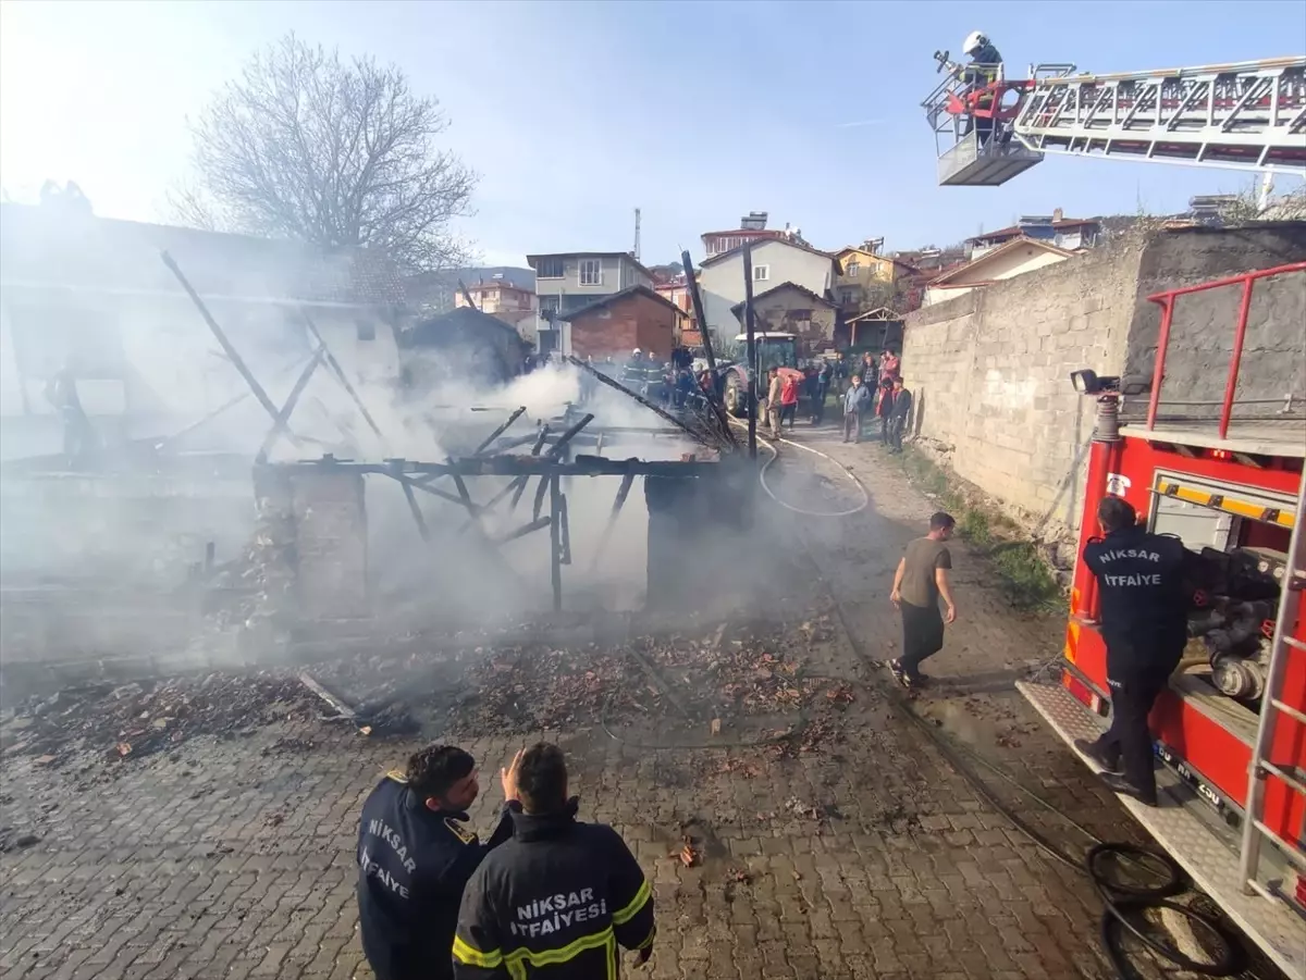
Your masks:
{"label": "firefighter with raised hand and no yellow stripes, beside striped colleague", "polygon": [[[516,762],[502,773],[505,800],[515,796]],[[490,850],[512,835],[507,806],[488,843],[462,825],[479,789],[471,756],[432,745],[406,771],[387,773],[363,804],[358,919],[377,980],[452,976],[462,890]]]}

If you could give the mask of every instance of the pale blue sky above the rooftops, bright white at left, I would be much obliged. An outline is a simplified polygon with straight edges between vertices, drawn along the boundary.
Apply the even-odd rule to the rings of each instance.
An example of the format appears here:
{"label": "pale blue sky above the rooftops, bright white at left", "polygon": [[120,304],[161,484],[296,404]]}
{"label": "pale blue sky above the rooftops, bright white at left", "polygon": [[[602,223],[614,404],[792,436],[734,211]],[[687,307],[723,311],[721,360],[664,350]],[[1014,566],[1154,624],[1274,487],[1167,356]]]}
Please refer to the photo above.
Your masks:
{"label": "pale blue sky above the rooftops, bright white at left", "polygon": [[[709,3],[0,0],[0,187],[74,180],[166,221],[188,117],[286,31],[400,65],[481,180],[457,231],[487,265],[623,251],[667,262],[752,210],[818,248],[943,245],[1021,214],[1185,210],[1233,171],[1049,157],[1000,188],[936,184],[931,54],[982,30],[1008,64],[1118,72],[1306,47],[1306,0]],[[1290,189],[1280,179],[1277,189]]]}

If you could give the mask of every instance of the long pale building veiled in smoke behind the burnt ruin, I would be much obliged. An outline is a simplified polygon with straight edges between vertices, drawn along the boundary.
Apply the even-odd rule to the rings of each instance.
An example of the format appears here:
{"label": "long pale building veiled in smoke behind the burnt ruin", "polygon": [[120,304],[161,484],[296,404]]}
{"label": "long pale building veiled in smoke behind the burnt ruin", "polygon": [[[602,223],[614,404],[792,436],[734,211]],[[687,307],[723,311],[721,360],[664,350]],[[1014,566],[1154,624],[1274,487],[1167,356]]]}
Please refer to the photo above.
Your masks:
{"label": "long pale building veiled in smoke behind the burnt ruin", "polygon": [[[5,458],[59,452],[46,390],[61,372],[71,372],[108,444],[184,431],[182,448],[221,442],[243,452],[243,442],[229,444],[247,432],[251,454],[259,448],[270,420],[247,397],[165,253],[273,401],[285,398],[312,356],[312,326],[357,386],[398,377],[405,291],[385,256],[101,218],[71,188],[40,205],[0,205]],[[311,384],[326,384],[325,373]],[[43,435],[29,437],[35,432]]]}

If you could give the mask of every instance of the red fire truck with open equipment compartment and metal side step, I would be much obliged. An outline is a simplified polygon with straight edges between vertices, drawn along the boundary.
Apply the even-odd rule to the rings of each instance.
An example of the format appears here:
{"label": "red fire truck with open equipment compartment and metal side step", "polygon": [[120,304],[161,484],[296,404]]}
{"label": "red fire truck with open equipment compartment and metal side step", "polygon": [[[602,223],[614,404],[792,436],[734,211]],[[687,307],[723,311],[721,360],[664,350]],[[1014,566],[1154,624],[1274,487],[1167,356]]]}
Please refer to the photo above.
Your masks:
{"label": "red fire truck with open equipment compartment and metal side step", "polygon": [[[1080,553],[1107,493],[1134,504],[1149,530],[1183,539],[1192,566],[1190,643],[1151,719],[1166,765],[1161,806],[1121,799],[1288,976],[1303,977],[1306,420],[1290,405],[1256,421],[1233,418],[1252,292],[1273,277],[1306,290],[1306,262],[1149,296],[1160,307],[1160,335],[1145,421],[1121,421],[1127,382],[1076,373],[1076,388],[1098,407]],[[1162,386],[1174,311],[1213,290],[1242,291],[1218,419],[1173,420],[1162,414]],[[1301,335],[1303,325],[1282,329]],[[1017,685],[1067,743],[1106,727],[1097,626],[1096,579],[1080,561],[1060,682]]]}

